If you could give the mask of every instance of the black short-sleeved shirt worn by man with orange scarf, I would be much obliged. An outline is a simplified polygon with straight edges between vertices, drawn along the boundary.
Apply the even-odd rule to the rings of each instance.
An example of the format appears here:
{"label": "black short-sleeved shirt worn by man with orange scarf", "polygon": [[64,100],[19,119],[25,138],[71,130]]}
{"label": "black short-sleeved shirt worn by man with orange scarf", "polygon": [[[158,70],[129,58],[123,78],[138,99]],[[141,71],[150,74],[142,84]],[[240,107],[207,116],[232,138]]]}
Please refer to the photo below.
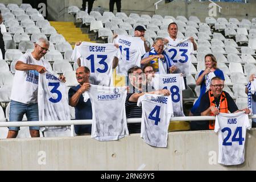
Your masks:
{"label": "black short-sleeved shirt worn by man with orange scarf", "polygon": [[[233,98],[227,92],[225,91],[222,91],[222,92],[225,93],[226,100],[228,102],[228,110],[230,111],[230,113],[234,113],[235,111],[237,111],[238,107],[234,102]],[[220,104],[220,97],[215,98],[213,102],[216,103],[216,105],[218,106]],[[210,98],[209,98],[209,91],[208,91],[201,97],[201,102],[200,102],[199,108],[197,109],[197,113],[203,113],[203,111],[207,110],[209,107],[210,107]]]}

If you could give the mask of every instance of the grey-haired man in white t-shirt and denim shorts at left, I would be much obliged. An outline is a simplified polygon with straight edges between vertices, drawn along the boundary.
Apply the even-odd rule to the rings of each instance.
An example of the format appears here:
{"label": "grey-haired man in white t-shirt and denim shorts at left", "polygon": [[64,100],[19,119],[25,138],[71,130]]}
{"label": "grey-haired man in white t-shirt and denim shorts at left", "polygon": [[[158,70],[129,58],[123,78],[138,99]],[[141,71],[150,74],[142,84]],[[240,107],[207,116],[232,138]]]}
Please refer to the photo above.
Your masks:
{"label": "grey-haired man in white t-shirt and denim shorts at left", "polygon": [[[52,69],[48,61],[42,57],[49,48],[47,39],[40,38],[31,53],[25,53],[15,65],[13,89],[11,90],[10,122],[22,121],[26,114],[28,121],[39,121],[38,115],[38,79],[39,73]],[[65,80],[64,76],[60,77]],[[19,127],[9,127],[7,138],[16,138]],[[30,127],[31,137],[39,137],[39,127]]]}

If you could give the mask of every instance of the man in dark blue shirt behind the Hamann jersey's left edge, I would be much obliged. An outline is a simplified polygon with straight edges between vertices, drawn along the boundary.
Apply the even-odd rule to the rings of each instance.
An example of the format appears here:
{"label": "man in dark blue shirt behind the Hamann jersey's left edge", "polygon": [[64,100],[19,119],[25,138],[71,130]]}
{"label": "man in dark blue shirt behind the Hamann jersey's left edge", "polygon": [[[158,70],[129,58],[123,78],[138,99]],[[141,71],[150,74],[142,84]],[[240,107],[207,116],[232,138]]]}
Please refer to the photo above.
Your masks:
{"label": "man in dark blue shirt behind the Hamann jersey's left edge", "polygon": [[[90,99],[84,102],[84,92],[89,90],[90,70],[87,67],[79,67],[76,70],[76,79],[79,85],[73,86],[68,91],[69,105],[75,107],[75,119],[92,119],[92,104]],[[75,125],[77,135],[90,134],[92,125]]]}

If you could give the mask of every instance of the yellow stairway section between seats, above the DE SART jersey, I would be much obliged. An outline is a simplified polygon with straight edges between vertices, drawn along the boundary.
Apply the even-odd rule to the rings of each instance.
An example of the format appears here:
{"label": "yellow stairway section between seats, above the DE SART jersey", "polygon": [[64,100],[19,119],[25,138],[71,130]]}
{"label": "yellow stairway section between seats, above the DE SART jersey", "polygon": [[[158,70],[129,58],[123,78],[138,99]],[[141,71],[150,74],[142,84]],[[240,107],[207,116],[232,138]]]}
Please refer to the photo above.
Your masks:
{"label": "yellow stairway section between seats, above the DE SART jersey", "polygon": [[72,48],[75,47],[76,42],[85,41],[93,42],[90,40],[88,34],[83,34],[80,28],[76,28],[73,22],[50,22],[51,26],[56,29],[56,31],[63,35],[64,38],[71,44]]}

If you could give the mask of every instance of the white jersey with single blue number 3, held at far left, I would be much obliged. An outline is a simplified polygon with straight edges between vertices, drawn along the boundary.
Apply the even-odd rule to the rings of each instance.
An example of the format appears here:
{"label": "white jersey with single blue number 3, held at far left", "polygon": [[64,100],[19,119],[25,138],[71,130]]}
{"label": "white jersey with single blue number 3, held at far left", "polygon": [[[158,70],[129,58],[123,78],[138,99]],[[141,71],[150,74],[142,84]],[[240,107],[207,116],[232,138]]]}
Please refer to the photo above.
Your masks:
{"label": "white jersey with single blue number 3, held at far left", "polygon": [[[64,82],[51,71],[39,74],[38,110],[39,121],[71,120],[68,95]],[[42,131],[69,128],[70,126],[46,126]]]}

